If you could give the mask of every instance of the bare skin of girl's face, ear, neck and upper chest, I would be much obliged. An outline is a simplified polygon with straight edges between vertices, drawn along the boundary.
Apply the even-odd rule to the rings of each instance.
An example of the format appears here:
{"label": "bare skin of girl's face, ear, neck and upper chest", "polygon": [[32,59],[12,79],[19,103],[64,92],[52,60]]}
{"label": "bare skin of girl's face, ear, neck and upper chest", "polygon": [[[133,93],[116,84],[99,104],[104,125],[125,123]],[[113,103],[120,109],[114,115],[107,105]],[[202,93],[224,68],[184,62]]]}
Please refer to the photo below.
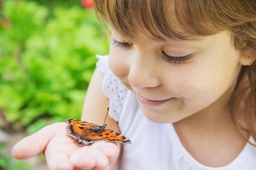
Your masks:
{"label": "bare skin of girl's face, ear, neck and upper chest", "polygon": [[[227,165],[246,144],[229,119],[228,107],[246,53],[232,47],[228,31],[197,41],[157,42],[147,37],[128,44],[113,31],[112,72],[136,94],[148,119],[174,123],[183,146],[197,161]],[[192,57],[167,62],[163,52]]]}

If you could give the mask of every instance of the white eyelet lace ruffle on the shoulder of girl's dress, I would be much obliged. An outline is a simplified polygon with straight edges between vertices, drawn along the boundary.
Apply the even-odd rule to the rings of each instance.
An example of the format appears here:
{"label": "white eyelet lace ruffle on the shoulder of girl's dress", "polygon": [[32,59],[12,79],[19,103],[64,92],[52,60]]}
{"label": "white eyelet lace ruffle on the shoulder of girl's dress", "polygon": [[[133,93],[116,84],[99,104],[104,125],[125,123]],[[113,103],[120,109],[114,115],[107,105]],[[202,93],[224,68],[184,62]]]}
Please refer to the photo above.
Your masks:
{"label": "white eyelet lace ruffle on the shoulder of girl's dress", "polygon": [[119,121],[128,89],[110,70],[108,55],[96,55],[96,57],[99,58],[96,66],[105,75],[101,90],[110,99],[109,115],[115,121]]}

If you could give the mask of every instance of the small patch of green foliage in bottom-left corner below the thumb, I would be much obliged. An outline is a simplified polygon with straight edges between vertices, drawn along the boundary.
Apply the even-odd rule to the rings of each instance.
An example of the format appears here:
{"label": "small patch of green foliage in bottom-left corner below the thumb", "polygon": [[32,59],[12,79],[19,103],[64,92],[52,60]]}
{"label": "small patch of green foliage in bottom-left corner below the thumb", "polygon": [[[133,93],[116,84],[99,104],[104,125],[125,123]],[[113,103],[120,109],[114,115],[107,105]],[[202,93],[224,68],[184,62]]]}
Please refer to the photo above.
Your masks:
{"label": "small patch of green foliage in bottom-left corner below the thumb", "polygon": [[4,144],[0,143],[0,170],[32,170],[24,161],[14,160],[11,154],[4,153]]}

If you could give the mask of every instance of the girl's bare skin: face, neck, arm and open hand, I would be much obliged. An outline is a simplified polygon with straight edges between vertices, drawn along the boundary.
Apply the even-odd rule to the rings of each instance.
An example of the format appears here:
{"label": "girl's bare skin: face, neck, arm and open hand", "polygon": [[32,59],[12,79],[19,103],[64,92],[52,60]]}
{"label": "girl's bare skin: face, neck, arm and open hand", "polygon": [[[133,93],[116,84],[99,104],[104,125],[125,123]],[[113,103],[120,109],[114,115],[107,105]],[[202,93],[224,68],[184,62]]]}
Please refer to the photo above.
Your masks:
{"label": "girl's bare skin: face, neck, arm and open hand", "polygon": [[[250,64],[248,55],[253,61],[256,56],[236,51],[228,31],[189,42],[158,42],[146,32],[138,35],[144,41],[127,46],[113,31],[112,38],[126,45],[111,44],[112,72],[137,95],[148,119],[173,123],[183,146],[197,161],[212,167],[230,163],[246,140],[229,119],[227,104],[241,65]],[[184,63],[168,62],[163,51],[174,57],[192,57]],[[101,92],[102,79],[103,74],[96,69],[81,118],[98,125],[103,124],[109,105]],[[119,132],[117,122],[109,116],[106,123]],[[64,122],[52,124],[22,139],[13,147],[13,157],[27,159],[44,152],[49,170],[115,168],[121,145],[104,141],[79,145],[66,135],[65,126]]]}

